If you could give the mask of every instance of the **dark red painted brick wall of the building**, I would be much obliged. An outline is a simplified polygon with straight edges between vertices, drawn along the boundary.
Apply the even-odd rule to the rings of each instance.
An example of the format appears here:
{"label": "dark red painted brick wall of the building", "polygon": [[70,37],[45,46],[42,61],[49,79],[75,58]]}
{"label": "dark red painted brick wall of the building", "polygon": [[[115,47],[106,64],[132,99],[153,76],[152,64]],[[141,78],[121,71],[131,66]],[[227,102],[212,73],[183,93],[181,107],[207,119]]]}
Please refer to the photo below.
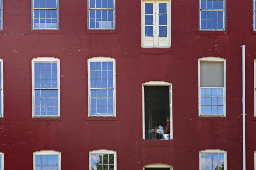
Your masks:
{"label": "dark red painted brick wall of the building", "polygon": [[[198,0],[171,2],[172,48],[141,48],[140,0],[116,0],[116,31],[87,31],[87,1],[60,0],[60,30],[31,30],[31,1],[4,0],[4,118],[0,152],[4,169],[32,169],[33,152],[61,152],[62,170],[89,166],[89,152],[116,151],[117,169],[143,169],[152,163],[174,170],[199,169],[199,151],[227,151],[227,169],[243,168],[242,48],[245,45],[246,167],[254,167],[252,1],[227,2],[227,32],[198,32]],[[55,31],[56,32],[56,31]],[[33,121],[31,59],[60,59],[60,117]],[[116,59],[116,118],[88,118],[87,59]],[[199,120],[198,59],[226,59],[225,120]],[[172,83],[173,140],[143,140],[142,84]]]}

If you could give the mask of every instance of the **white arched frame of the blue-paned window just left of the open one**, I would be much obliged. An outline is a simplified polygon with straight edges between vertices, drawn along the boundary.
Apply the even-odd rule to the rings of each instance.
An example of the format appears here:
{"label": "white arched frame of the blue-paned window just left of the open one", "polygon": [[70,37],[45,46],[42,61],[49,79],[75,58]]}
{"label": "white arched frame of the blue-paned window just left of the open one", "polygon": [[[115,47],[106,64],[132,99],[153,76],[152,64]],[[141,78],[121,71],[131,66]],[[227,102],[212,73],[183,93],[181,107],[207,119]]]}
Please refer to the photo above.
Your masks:
{"label": "white arched frame of the blue-paned window just left of the open one", "polygon": [[[90,62],[113,62],[113,89],[114,89],[114,115],[91,115],[91,65]],[[87,60],[87,82],[88,82],[88,117],[116,117],[116,59],[110,57],[92,57]]]}

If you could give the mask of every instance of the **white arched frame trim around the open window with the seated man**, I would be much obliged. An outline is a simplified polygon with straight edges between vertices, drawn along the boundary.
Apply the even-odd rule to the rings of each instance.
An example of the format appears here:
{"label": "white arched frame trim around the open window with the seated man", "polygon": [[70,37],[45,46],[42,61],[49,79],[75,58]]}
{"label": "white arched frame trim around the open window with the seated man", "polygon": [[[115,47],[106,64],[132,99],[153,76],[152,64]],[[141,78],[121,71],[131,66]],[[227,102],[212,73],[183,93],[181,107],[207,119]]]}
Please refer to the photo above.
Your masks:
{"label": "white arched frame trim around the open window with the seated man", "polygon": [[169,95],[170,95],[170,139],[173,139],[173,128],[172,128],[172,83],[164,82],[164,81],[149,81],[142,84],[142,135],[143,139],[145,140],[145,99],[144,99],[144,86],[147,85],[163,85],[163,86],[169,86]]}

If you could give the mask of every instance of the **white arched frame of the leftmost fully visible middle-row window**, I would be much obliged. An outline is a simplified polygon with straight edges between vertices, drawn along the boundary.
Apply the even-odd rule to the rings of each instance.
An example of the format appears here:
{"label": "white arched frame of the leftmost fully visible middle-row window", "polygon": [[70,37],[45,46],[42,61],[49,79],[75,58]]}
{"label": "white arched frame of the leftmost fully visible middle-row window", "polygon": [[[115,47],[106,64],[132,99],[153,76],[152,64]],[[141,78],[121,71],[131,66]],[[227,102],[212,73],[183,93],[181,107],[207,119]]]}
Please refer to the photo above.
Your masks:
{"label": "white arched frame of the leftmost fully visible middle-row window", "polygon": [[[58,78],[58,115],[35,115],[35,62],[56,62],[57,63],[57,78]],[[31,61],[31,70],[32,70],[32,117],[60,117],[60,59],[54,57],[37,57],[33,58]]]}

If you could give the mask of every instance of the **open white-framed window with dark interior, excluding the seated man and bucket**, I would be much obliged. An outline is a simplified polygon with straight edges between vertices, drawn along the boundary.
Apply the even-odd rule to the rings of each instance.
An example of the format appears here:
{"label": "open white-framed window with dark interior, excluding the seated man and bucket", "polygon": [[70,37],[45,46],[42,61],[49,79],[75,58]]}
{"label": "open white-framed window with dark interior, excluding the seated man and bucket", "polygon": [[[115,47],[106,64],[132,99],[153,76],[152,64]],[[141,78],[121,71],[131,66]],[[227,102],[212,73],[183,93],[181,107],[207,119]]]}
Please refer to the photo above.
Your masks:
{"label": "open white-framed window with dark interior, excluding the seated man and bucket", "polygon": [[[158,125],[166,126],[166,118],[170,117],[170,139],[172,133],[172,84],[164,81],[150,81],[142,84],[142,128],[143,139],[153,139],[148,130]],[[162,135],[156,139],[162,139]]]}

